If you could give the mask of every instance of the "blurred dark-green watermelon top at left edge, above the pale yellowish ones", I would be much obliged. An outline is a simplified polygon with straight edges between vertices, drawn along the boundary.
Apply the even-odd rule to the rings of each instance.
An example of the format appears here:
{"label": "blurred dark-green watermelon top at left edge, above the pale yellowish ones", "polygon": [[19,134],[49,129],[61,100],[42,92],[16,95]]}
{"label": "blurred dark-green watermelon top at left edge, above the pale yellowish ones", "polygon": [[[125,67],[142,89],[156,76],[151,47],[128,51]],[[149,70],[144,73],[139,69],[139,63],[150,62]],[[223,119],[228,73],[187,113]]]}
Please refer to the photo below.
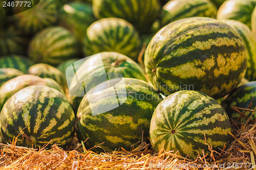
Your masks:
{"label": "blurred dark-green watermelon top at left edge, above the pale yellowish ones", "polygon": [[16,68],[24,73],[33,64],[31,59],[20,55],[7,55],[0,58],[0,68]]}

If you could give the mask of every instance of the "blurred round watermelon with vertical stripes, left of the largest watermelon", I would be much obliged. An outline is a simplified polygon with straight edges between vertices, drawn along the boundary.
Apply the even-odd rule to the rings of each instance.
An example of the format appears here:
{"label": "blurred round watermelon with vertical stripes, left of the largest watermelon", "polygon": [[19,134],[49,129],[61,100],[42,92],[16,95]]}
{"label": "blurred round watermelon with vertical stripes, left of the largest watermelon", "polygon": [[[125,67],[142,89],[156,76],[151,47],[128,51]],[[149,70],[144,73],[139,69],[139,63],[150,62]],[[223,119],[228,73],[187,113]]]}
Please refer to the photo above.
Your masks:
{"label": "blurred round watermelon with vertical stripes, left of the largest watermelon", "polygon": [[141,50],[141,40],[131,23],[121,18],[103,18],[92,23],[84,37],[83,52],[118,52],[134,60]]}

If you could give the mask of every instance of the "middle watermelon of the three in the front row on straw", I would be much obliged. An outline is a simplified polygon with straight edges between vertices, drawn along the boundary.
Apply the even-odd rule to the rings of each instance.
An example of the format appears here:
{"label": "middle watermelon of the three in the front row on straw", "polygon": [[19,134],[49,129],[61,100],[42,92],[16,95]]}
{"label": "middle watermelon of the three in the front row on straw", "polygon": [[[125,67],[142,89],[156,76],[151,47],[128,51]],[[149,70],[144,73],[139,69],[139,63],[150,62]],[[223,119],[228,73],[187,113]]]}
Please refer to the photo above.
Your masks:
{"label": "middle watermelon of the three in the front row on straw", "polygon": [[[131,145],[142,139],[142,134],[147,140],[150,119],[160,101],[159,93],[142,80],[105,81],[92,88],[81,101],[77,112],[78,139],[89,137],[84,142],[86,148],[104,142],[100,147],[106,152],[120,147],[130,150]],[[95,148],[95,151],[103,150]]]}

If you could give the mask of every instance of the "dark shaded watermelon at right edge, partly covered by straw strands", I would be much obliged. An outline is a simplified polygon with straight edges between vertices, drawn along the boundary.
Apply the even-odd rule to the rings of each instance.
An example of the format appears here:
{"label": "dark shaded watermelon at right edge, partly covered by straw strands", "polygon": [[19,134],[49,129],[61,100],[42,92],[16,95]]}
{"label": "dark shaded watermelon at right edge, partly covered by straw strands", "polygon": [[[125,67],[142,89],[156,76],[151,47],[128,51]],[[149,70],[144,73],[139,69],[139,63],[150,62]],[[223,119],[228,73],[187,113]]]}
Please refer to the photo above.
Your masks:
{"label": "dark shaded watermelon at right edge, partly covered by straw strands", "polygon": [[[245,112],[247,117],[240,115],[236,110],[231,109],[232,106],[240,107],[240,108],[247,108],[250,103],[253,103],[250,109],[256,109],[256,81],[248,82],[244,85],[241,85],[234,89],[230,94],[228,94],[227,98],[225,98],[221,105],[226,110],[228,116],[233,119],[239,119],[240,122],[245,123],[247,118],[251,116],[251,120],[256,118],[256,113],[252,113],[249,111]],[[242,113],[243,110],[240,110]],[[252,115],[251,115],[252,114]]]}

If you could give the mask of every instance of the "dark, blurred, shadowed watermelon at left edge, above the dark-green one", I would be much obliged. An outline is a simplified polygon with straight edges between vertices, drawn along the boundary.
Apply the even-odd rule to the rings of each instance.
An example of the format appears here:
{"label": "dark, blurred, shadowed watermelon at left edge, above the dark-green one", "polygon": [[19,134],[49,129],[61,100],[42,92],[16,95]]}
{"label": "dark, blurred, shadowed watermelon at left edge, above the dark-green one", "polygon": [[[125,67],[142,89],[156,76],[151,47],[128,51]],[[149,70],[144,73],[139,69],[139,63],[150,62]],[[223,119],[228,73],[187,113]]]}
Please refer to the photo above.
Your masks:
{"label": "dark, blurred, shadowed watermelon at left edge, above the dark-green one", "polygon": [[13,26],[0,31],[0,56],[27,55],[28,38]]}

